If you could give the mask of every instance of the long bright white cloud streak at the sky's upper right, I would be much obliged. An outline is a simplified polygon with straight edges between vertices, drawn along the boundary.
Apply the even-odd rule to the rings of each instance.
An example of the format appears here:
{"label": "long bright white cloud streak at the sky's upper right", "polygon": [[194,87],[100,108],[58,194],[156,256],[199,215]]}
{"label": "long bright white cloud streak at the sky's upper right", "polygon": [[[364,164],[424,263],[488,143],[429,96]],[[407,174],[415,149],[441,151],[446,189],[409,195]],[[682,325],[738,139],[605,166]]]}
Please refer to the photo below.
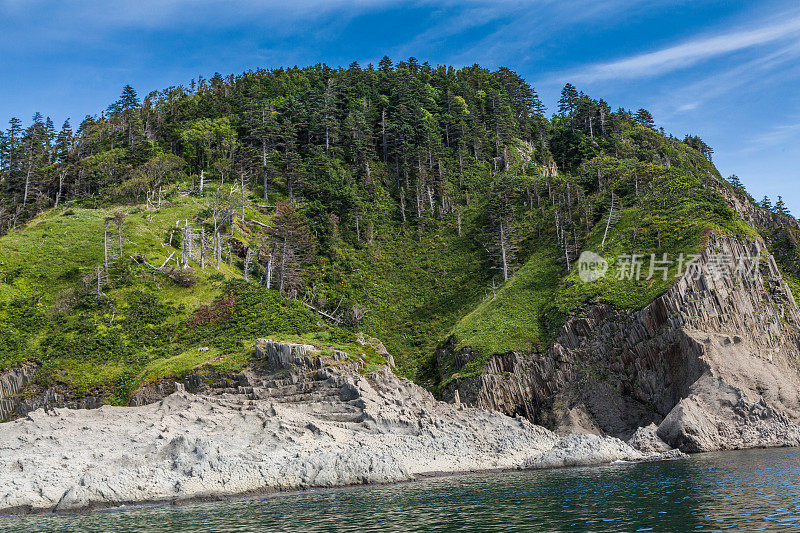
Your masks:
{"label": "long bright white cloud streak at the sky's upper right", "polygon": [[647,52],[608,63],[591,65],[573,74],[572,79],[592,83],[612,79],[632,79],[664,75],[702,61],[740,50],[800,38],[800,16],[755,29],[695,39],[654,52]]}

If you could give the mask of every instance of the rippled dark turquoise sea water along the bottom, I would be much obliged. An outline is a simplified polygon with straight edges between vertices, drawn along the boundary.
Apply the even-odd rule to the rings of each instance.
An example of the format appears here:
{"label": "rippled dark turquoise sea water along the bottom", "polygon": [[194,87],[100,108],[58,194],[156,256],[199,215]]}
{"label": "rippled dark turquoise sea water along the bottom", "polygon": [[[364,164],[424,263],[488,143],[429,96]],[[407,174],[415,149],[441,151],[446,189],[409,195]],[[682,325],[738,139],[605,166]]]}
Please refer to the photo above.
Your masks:
{"label": "rippled dark turquoise sea water along the bottom", "polygon": [[800,450],[0,518],[0,531],[14,532],[727,530],[800,531]]}

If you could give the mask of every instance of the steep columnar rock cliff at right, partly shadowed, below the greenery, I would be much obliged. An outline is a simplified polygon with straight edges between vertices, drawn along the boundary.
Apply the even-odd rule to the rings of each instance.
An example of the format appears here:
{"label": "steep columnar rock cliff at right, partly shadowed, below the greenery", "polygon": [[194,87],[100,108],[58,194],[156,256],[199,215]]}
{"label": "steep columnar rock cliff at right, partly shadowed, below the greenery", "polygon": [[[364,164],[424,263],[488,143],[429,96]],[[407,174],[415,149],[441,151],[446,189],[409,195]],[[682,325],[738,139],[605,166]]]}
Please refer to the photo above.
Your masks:
{"label": "steep columnar rock cliff at right, partly shadowed, below the greenery", "polygon": [[[723,256],[761,260],[715,275]],[[444,398],[558,432],[627,440],[655,424],[684,451],[800,444],[800,311],[774,259],[760,240],[711,236],[698,263],[641,311],[591,306],[543,355],[494,356]]]}

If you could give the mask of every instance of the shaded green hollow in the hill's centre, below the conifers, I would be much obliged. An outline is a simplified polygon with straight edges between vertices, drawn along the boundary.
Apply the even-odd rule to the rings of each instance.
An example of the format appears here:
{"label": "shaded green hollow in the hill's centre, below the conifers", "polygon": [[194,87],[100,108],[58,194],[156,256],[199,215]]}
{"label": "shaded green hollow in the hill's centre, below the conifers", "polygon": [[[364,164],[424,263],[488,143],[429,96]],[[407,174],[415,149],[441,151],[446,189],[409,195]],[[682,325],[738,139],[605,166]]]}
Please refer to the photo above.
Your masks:
{"label": "shaded green hollow in the hill's centre, below the conifers", "polygon": [[430,221],[418,236],[394,229],[368,247],[343,251],[351,271],[332,289],[369,310],[361,327],[383,340],[400,370],[420,376],[441,332],[474,306],[486,284],[481,251],[453,224]]}

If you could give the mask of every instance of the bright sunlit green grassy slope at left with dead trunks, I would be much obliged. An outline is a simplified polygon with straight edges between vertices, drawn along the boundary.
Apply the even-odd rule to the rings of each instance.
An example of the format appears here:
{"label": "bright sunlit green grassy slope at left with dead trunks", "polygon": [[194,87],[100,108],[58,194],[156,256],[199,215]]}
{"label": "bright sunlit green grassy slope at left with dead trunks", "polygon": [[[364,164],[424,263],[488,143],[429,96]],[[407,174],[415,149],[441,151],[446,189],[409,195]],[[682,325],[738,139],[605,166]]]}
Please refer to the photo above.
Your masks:
{"label": "bright sunlit green grassy slope at left with dead trunks", "polygon": [[[352,332],[322,323],[298,302],[257,286],[226,284],[241,276],[235,262],[219,271],[192,264],[198,281],[186,288],[130,261],[128,256],[142,254],[160,264],[171,252],[179,254],[165,236],[205,206],[204,199],[176,196],[157,212],[123,208],[124,258],[112,258],[116,273],[99,300],[87,294],[93,283],[84,287],[82,279],[102,263],[104,219],[111,210],[62,207],[0,237],[0,370],[34,359],[42,365],[37,379],[43,384],[124,402],[145,380],[180,376],[200,365],[240,368],[256,337],[330,345],[374,366],[374,350],[356,345]],[[233,327],[187,326],[203,304],[231,291]]]}

